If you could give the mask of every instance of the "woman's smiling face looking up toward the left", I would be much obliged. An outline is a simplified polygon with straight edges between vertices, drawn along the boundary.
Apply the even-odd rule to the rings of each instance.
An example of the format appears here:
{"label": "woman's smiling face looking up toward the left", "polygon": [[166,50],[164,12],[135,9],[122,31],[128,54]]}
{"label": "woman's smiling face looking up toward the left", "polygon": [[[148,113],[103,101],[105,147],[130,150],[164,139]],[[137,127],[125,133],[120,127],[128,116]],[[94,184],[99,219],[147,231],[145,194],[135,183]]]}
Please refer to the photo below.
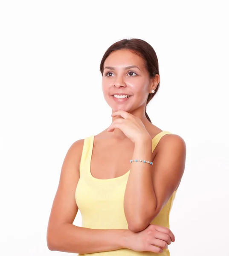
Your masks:
{"label": "woman's smiling face looking up toward the left", "polygon": [[145,111],[153,85],[144,60],[128,49],[116,50],[104,61],[102,90],[113,111]]}

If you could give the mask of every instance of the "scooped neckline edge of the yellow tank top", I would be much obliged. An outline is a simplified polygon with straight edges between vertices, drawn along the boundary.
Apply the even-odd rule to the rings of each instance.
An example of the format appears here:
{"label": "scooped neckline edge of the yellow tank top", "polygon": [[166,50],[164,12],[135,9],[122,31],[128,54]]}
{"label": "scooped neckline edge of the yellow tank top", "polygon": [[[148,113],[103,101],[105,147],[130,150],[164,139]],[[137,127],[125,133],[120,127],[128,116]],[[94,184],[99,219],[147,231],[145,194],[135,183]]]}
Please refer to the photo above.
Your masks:
{"label": "scooped neckline edge of the yellow tank top", "polygon": [[[154,142],[154,140],[157,139],[157,137],[159,137],[159,135],[161,135],[162,133],[169,133],[171,134],[171,132],[169,131],[161,131],[159,132],[157,135],[154,136],[154,138],[152,139],[152,143]],[[118,177],[115,177],[115,178],[109,178],[109,179],[98,179],[96,177],[94,177],[92,174],[91,174],[91,158],[92,158],[92,152],[93,152],[93,145],[94,145],[94,137],[95,135],[92,135],[89,137],[90,139],[90,157],[89,157],[89,165],[88,165],[88,173],[89,173],[89,176],[93,179],[93,180],[96,180],[98,182],[110,182],[110,181],[114,181],[114,180],[120,180],[126,176],[129,175],[130,173],[130,169],[128,170],[128,172],[126,172],[124,175],[121,175],[121,176],[118,176]],[[153,151],[152,151],[153,152]]]}

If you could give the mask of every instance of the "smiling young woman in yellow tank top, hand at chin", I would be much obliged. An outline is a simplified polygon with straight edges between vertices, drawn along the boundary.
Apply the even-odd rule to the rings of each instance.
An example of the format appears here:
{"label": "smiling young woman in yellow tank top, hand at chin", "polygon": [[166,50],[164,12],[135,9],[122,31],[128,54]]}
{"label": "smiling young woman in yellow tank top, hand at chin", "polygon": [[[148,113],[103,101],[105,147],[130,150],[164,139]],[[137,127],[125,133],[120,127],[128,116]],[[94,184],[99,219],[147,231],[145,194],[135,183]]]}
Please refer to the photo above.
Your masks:
{"label": "smiling young woman in yellow tank top, hand at chin", "polygon": [[[186,144],[146,113],[159,89],[157,55],[143,40],[121,40],[107,49],[100,70],[112,123],[68,150],[49,217],[48,248],[90,256],[169,256],[175,241],[169,213]],[[72,224],[78,209],[82,227]]]}

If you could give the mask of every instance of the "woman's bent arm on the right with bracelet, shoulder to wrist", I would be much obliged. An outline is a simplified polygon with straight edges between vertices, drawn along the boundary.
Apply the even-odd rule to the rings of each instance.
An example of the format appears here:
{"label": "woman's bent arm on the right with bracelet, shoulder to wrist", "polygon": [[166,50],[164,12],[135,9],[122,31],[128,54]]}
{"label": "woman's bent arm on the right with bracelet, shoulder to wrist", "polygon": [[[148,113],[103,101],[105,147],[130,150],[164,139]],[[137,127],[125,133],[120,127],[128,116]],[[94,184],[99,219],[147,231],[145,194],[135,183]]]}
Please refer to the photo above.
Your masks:
{"label": "woman's bent arm on the right with bracelet, shoulder to wrist", "polygon": [[[124,211],[128,228],[133,232],[144,230],[167,203],[183,176],[186,144],[175,134],[161,138],[154,164],[131,163]],[[152,141],[136,142],[133,158],[151,160]]]}

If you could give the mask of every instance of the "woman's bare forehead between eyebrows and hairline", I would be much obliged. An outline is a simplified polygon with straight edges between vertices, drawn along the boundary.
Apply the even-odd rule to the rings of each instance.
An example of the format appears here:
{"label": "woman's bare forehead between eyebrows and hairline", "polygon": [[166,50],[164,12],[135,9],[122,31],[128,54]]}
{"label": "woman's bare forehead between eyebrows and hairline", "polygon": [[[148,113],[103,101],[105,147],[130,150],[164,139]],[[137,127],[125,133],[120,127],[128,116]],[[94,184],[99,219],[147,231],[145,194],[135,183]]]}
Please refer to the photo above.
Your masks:
{"label": "woman's bare forehead between eyebrows and hairline", "polygon": [[131,52],[128,49],[121,49],[111,52],[110,55],[104,61],[104,66],[144,66],[144,60],[136,53]]}

